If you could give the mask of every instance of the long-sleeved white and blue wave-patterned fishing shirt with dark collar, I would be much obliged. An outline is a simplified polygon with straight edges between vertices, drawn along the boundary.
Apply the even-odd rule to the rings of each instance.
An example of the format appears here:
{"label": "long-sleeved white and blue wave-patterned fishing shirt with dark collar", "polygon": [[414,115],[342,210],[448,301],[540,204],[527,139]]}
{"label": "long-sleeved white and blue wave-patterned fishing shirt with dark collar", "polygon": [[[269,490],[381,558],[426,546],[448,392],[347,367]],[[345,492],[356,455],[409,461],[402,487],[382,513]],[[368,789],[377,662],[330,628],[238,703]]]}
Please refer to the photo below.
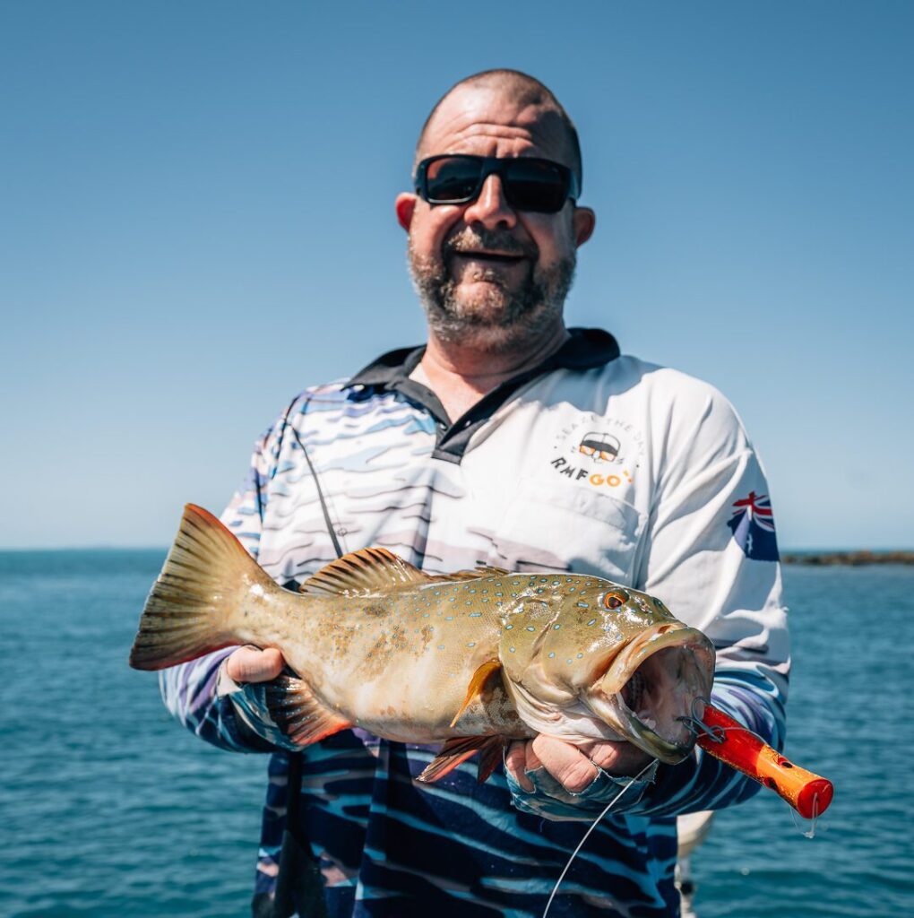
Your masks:
{"label": "long-sleeved white and blue wave-patterned fishing shirt with dark collar", "polygon": [[[273,579],[297,588],[344,552],[383,546],[429,574],[475,565],[605,577],[662,599],[717,650],[711,700],[783,744],[789,666],[764,471],[712,386],[571,330],[541,366],[451,422],[410,378],[424,349],[386,353],[295,397],[256,443],[223,521]],[[307,451],[307,457],[306,453]],[[324,501],[322,505],[321,493]],[[206,741],[273,751],[255,901],[268,898],[285,821],[284,749],[262,687],[235,686],[231,649],[162,674],[166,703]],[[574,846],[628,779],[528,794],[473,761],[430,785],[436,747],[354,729],[303,750],[299,818],[330,918],[539,918]],[[700,747],[625,790],[563,880],[550,915],[679,913],[675,816],[758,785]]]}

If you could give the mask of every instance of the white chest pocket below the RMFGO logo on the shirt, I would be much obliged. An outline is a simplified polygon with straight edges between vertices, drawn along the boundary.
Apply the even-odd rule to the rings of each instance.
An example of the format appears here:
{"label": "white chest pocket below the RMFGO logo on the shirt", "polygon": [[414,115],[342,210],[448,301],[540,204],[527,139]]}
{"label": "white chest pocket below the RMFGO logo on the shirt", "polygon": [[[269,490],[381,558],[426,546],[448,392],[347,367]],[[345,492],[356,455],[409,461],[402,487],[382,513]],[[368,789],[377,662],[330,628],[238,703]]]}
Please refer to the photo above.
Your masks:
{"label": "white chest pocket below the RMFGO logo on the shirt", "polygon": [[607,494],[522,479],[496,526],[489,562],[630,584],[645,522],[638,509]]}

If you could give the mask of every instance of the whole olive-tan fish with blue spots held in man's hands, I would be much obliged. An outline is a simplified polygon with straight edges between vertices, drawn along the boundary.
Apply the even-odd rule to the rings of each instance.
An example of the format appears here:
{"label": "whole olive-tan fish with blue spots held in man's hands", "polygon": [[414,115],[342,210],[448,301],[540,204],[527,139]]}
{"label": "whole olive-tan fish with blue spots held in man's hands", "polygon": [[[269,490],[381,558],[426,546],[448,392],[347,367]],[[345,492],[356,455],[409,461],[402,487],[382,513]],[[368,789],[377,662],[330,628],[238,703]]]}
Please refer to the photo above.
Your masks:
{"label": "whole olive-tan fish with blue spots held in man's hands", "polygon": [[283,655],[265,697],[294,744],[353,727],[442,744],[422,781],[476,754],[483,781],[509,741],[537,733],[626,740],[675,764],[696,743],[688,722],[715,665],[708,637],[660,599],[591,575],[495,566],[434,575],[374,547],[344,554],[295,593],[187,504],[129,664],[163,669],[240,644]]}

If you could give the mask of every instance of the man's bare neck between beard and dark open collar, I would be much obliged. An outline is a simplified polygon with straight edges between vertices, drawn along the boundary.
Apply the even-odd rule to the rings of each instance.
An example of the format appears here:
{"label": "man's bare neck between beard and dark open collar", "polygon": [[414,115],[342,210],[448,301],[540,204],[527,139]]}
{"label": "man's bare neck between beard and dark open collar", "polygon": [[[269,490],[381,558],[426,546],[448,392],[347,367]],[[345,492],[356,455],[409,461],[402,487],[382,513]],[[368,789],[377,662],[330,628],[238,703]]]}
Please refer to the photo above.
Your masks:
{"label": "man's bare neck between beard and dark open collar", "polygon": [[472,339],[442,341],[429,330],[421,366],[448,417],[456,420],[496,386],[541,364],[569,337],[559,319],[551,330],[534,341],[525,341],[506,351],[488,351],[475,346]]}

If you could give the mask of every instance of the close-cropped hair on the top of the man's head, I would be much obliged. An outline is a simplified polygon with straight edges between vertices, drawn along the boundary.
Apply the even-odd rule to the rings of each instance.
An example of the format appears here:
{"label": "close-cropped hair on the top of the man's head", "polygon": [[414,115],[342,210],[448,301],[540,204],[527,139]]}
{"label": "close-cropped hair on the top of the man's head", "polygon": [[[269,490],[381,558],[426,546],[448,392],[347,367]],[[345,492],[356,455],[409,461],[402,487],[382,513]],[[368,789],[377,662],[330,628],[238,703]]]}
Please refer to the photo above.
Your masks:
{"label": "close-cropped hair on the top of the man's head", "polygon": [[429,155],[426,150],[426,141],[429,133],[436,127],[436,121],[440,119],[442,110],[447,109],[445,103],[452,100],[455,95],[466,94],[474,90],[499,95],[507,103],[516,106],[518,110],[534,112],[541,124],[541,129],[555,133],[562,138],[564,162],[577,176],[578,187],[581,186],[581,146],[572,119],[568,117],[568,113],[559,100],[552,95],[552,90],[548,86],[518,70],[486,70],[482,73],[474,73],[461,80],[460,83],[451,86],[432,108],[419,132],[416,145],[417,163]]}

